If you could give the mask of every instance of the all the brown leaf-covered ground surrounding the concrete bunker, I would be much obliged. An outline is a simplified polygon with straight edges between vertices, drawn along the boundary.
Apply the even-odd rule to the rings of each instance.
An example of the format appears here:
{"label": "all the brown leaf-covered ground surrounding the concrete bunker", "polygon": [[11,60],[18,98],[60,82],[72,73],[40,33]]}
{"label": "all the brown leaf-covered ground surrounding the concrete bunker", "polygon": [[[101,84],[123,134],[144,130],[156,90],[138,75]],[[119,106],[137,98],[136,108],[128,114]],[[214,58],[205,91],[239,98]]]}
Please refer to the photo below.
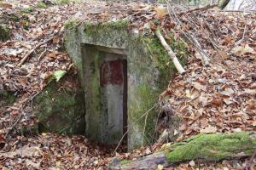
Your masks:
{"label": "all the brown leaf-covered ground surrounding the concrete bunker", "polygon": [[[24,137],[15,133],[20,124],[33,126],[37,122],[27,114],[28,104],[47,85],[47,77],[53,71],[72,67],[63,50],[65,23],[71,19],[128,19],[131,26],[143,31],[156,18],[162,21],[163,31],[172,30],[175,37],[190,35],[186,72],[172,80],[160,95],[162,99],[168,97],[165,105],[169,116],[182,117],[177,141],[196,133],[256,130],[256,14],[226,14],[216,8],[187,14],[170,9],[171,13],[179,11],[170,19],[166,10],[140,3],[61,2],[45,5],[38,0],[0,1],[0,21],[12,31],[9,41],[0,42],[0,90],[4,86],[18,97],[14,105],[0,107],[1,168],[106,169],[112,160],[113,150],[90,144],[83,136],[42,133]],[[154,30],[155,26],[149,28]],[[40,42],[44,43],[21,63]],[[209,59],[209,64],[202,62],[203,57]],[[166,128],[162,123],[159,133]],[[154,144],[114,156],[135,159],[158,148],[160,144]],[[242,169],[248,159],[190,161],[169,169]]]}

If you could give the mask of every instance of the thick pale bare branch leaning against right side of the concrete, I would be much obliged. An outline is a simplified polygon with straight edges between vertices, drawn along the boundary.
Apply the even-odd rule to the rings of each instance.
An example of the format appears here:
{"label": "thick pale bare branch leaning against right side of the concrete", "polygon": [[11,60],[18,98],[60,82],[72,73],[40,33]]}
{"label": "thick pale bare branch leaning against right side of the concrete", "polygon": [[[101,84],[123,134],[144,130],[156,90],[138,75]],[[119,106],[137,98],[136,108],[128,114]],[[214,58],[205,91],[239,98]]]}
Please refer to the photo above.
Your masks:
{"label": "thick pale bare branch leaning against right side of the concrete", "polygon": [[178,61],[176,54],[172,51],[172,48],[167,44],[165,38],[161,35],[160,29],[157,29],[155,31],[155,35],[160,40],[163,47],[166,49],[167,53],[170,55],[172,62],[174,63],[175,67],[177,68],[177,71],[182,74],[185,70],[183,69],[183,66]]}

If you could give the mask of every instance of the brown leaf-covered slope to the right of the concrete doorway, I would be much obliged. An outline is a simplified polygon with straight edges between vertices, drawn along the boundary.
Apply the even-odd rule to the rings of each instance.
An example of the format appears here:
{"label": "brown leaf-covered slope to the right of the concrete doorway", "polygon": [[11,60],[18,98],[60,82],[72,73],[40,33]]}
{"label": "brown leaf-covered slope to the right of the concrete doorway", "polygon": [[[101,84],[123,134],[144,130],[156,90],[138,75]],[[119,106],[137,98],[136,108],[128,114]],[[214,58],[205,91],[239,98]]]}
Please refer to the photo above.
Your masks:
{"label": "brown leaf-covered slope to the right of the concrete doorway", "polygon": [[[185,74],[161,94],[182,118],[178,140],[196,133],[255,131],[256,14],[198,15],[196,24],[187,16],[180,20],[201,48],[191,49]],[[201,49],[209,65],[204,65]]]}

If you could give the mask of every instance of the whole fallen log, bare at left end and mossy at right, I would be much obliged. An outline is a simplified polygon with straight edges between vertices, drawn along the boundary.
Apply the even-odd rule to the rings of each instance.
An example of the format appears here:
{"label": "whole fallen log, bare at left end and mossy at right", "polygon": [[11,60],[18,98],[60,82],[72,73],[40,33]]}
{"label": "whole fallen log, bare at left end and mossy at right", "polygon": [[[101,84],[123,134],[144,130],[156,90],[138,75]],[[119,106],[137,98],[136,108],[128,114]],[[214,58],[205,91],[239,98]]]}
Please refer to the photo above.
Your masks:
{"label": "whole fallen log, bare at left end and mossy at right", "polygon": [[119,161],[110,169],[156,169],[158,165],[172,167],[190,160],[203,162],[241,158],[252,156],[255,147],[256,132],[201,133],[136,161]]}

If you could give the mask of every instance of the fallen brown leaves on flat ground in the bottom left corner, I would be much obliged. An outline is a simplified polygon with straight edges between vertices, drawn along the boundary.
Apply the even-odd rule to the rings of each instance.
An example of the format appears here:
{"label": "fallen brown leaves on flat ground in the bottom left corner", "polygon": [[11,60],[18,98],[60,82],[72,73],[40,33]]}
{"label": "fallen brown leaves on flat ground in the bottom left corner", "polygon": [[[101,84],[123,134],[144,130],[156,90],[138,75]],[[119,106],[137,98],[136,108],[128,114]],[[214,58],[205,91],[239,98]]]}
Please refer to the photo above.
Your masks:
{"label": "fallen brown leaves on flat ground in the bottom left corner", "polygon": [[42,133],[37,137],[19,137],[13,147],[0,153],[1,168],[102,169],[107,168],[111,156],[109,149],[90,144],[83,136]]}

